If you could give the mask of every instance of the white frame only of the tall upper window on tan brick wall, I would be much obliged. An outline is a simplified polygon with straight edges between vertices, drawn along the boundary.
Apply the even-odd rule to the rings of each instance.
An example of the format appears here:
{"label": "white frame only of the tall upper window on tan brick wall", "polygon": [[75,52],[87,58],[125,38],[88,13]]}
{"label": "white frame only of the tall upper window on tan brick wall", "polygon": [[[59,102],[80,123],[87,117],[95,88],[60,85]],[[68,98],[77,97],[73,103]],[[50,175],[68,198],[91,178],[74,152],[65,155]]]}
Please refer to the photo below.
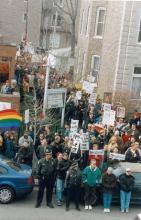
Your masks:
{"label": "white frame only of the tall upper window on tan brick wall", "polygon": [[[99,14],[100,14],[100,11],[103,11],[103,10],[105,11],[105,14],[104,14],[104,20],[103,20],[102,35],[97,35],[98,23],[99,23],[99,22],[98,22],[98,20],[99,20]],[[106,21],[106,8],[105,8],[105,7],[97,7],[97,9],[96,9],[96,22],[95,22],[94,38],[103,39],[105,21]]]}

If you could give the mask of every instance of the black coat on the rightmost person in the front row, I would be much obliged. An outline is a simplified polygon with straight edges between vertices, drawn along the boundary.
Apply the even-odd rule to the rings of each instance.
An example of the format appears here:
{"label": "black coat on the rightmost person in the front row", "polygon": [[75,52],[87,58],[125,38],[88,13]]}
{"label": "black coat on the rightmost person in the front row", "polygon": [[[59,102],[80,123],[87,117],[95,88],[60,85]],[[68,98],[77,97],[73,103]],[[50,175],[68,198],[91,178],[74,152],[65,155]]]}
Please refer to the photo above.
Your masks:
{"label": "black coat on the rightmost person in the front row", "polygon": [[131,192],[133,190],[135,178],[132,175],[126,175],[126,173],[119,176],[120,189],[125,192]]}

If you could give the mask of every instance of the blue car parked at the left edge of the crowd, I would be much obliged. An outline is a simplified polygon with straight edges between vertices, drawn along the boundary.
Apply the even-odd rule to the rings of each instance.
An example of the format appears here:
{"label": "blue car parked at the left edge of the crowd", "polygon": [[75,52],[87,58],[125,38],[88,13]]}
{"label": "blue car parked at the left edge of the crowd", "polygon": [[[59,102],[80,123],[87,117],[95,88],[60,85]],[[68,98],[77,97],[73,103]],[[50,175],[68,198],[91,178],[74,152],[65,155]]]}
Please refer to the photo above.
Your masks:
{"label": "blue car parked at the left edge of the crowd", "polygon": [[16,197],[32,192],[34,179],[31,167],[0,156],[0,203],[10,203]]}

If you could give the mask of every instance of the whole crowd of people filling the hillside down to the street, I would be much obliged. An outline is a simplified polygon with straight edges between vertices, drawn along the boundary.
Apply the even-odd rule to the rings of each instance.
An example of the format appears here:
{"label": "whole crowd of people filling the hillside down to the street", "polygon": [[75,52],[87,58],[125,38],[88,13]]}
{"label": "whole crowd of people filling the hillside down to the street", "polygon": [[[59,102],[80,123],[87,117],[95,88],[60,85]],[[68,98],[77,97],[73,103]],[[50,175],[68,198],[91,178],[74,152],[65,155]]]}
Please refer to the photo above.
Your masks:
{"label": "whole crowd of people filling the hillside down to the street", "polygon": [[[33,92],[42,102],[44,94],[45,73],[42,67],[30,68],[30,57],[19,58],[16,64],[16,82],[19,85],[21,98],[23,94]],[[10,87],[1,91],[5,93]],[[44,126],[39,135],[26,131],[20,138],[17,132],[6,131],[0,134],[0,154],[9,159],[32,167],[33,158],[38,160],[36,177],[39,189],[35,207],[41,206],[44,190],[46,204],[54,208],[52,196],[55,188],[56,203],[62,206],[65,196],[66,211],[70,208],[72,195],[75,207],[80,211],[80,201],[86,210],[92,210],[96,201],[97,186],[102,186],[104,212],[111,210],[112,192],[117,184],[120,187],[121,212],[129,211],[131,192],[134,186],[132,170],[127,168],[117,178],[113,173],[112,164],[116,159],[110,158],[110,153],[125,155],[125,161],[141,162],[141,118],[135,110],[131,120],[117,118],[114,126],[103,126],[97,130],[95,124],[102,122],[103,108],[99,97],[95,104],[89,103],[89,95],[82,92],[81,99],[76,96],[76,89],[68,88],[68,76],[59,76],[54,71],[49,76],[49,88],[67,88],[65,126],[63,133],[52,133],[49,126]],[[6,92],[7,93],[7,92]],[[72,151],[74,140],[71,136],[71,120],[78,120],[78,133],[86,133],[89,137],[89,149]],[[36,138],[34,143],[33,139]],[[89,155],[89,150],[103,150],[104,155]]]}

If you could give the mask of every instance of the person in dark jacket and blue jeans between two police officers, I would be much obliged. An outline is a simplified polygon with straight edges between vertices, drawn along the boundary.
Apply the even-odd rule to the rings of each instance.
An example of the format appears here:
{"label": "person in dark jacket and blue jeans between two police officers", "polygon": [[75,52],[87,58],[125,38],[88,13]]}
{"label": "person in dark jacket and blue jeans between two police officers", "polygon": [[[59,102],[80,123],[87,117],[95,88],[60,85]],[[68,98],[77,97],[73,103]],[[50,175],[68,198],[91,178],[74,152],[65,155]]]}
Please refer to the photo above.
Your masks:
{"label": "person in dark jacket and blue jeans between two police officers", "polygon": [[66,178],[66,172],[70,166],[70,161],[68,160],[68,154],[63,153],[62,160],[58,160],[57,163],[57,179],[56,179],[56,198],[57,205],[62,205],[62,194],[64,191],[64,183]]}

